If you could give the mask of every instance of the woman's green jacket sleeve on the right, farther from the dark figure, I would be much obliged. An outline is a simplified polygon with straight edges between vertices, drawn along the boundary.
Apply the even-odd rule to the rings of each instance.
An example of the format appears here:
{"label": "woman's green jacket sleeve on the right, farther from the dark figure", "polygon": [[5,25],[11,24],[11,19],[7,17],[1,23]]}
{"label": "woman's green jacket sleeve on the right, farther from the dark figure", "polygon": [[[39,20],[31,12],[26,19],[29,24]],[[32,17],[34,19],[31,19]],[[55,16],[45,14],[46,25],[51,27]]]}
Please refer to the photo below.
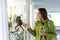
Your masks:
{"label": "woman's green jacket sleeve on the right, farther from the dark figure", "polygon": [[47,33],[47,39],[56,39],[56,30],[55,30],[55,25],[53,24],[53,22],[51,21],[50,22],[50,30],[51,32],[50,33]]}

